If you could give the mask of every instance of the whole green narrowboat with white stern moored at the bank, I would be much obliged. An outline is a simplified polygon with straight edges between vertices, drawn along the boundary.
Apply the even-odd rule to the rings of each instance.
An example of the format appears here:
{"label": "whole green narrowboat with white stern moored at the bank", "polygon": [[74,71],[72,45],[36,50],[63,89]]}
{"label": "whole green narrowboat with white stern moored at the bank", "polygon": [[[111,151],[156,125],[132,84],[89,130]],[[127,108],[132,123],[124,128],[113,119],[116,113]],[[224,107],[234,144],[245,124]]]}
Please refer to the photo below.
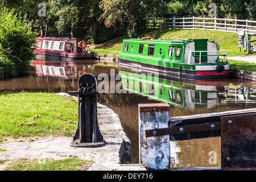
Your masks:
{"label": "whole green narrowboat with white stern moored at the bank", "polygon": [[226,50],[219,47],[208,39],[123,39],[118,67],[199,80],[229,77]]}

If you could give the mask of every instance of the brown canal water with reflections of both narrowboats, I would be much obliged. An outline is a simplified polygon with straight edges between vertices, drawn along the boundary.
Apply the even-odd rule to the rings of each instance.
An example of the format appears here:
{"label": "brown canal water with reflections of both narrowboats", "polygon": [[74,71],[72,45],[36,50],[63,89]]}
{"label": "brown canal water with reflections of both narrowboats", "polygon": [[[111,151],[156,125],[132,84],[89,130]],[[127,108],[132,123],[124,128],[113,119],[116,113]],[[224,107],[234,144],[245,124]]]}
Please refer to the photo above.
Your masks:
{"label": "brown canal water with reflections of both narrowboats", "polygon": [[[77,90],[78,78],[83,73],[92,73],[98,80],[98,90],[106,92],[98,95],[98,102],[119,115],[131,140],[132,163],[139,163],[138,104],[167,102],[170,117],[249,109],[256,104],[255,82],[238,78],[177,81],[157,75],[121,72],[111,65],[94,64],[93,60],[35,60],[28,76],[0,81],[0,94],[22,91],[67,93]],[[220,166],[220,137],[171,141],[171,167]]]}

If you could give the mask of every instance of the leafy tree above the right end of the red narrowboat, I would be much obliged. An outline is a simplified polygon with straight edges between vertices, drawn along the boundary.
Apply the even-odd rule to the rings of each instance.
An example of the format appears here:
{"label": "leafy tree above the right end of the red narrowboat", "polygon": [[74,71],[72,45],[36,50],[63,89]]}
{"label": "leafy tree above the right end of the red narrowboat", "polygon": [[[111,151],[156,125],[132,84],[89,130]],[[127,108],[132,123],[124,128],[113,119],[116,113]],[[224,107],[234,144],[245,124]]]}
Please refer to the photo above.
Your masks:
{"label": "leafy tree above the right end of the red narrowboat", "polygon": [[[73,27],[81,25],[94,29],[101,26],[98,18],[102,13],[100,0],[49,0],[47,2],[47,17],[54,20],[58,35],[69,35]],[[96,34],[96,32],[93,32]]]}

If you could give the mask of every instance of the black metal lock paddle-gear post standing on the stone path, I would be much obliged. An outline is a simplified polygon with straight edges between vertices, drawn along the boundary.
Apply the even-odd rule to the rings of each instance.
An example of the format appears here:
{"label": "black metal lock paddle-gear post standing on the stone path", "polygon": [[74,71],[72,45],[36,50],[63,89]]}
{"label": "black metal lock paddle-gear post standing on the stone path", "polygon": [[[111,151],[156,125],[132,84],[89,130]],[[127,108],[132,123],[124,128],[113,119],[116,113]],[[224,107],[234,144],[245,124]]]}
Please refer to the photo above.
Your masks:
{"label": "black metal lock paddle-gear post standing on the stone path", "polygon": [[80,76],[78,91],[68,92],[79,96],[79,122],[71,142],[72,147],[101,147],[104,137],[98,126],[97,81],[92,74]]}

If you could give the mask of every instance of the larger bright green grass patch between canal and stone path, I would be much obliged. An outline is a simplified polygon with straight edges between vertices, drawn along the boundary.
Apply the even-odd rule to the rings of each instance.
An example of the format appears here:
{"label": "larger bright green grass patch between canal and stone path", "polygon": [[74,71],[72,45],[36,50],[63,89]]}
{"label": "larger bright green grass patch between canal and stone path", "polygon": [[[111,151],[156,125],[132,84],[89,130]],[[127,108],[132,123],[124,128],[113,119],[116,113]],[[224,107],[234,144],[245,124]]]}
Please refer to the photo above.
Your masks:
{"label": "larger bright green grass patch between canal and stone path", "polygon": [[49,93],[0,95],[0,140],[5,137],[71,137],[77,127],[77,102]]}

